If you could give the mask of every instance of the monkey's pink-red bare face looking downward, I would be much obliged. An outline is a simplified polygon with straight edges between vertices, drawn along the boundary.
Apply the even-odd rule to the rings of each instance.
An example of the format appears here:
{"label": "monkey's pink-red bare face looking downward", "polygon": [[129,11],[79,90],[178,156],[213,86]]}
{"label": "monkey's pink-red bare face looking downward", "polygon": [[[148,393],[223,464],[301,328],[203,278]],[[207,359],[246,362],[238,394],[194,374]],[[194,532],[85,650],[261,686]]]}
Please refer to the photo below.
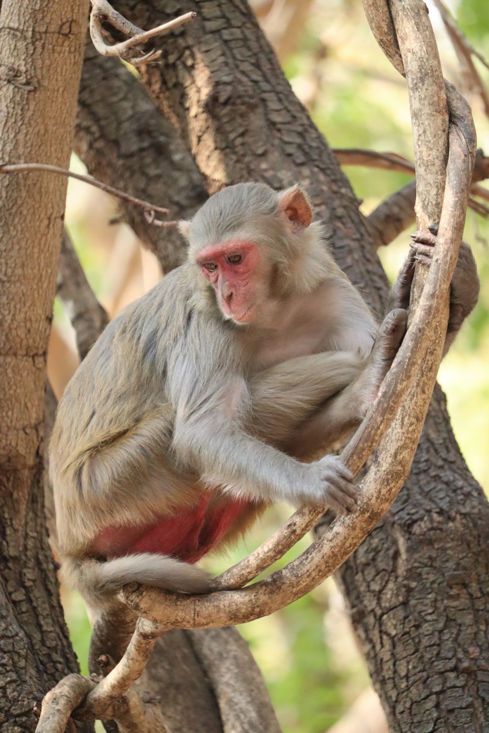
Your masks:
{"label": "monkey's pink-red bare face looking downward", "polygon": [[196,254],[196,263],[213,285],[219,307],[236,323],[250,323],[256,317],[260,255],[251,242],[212,244]]}

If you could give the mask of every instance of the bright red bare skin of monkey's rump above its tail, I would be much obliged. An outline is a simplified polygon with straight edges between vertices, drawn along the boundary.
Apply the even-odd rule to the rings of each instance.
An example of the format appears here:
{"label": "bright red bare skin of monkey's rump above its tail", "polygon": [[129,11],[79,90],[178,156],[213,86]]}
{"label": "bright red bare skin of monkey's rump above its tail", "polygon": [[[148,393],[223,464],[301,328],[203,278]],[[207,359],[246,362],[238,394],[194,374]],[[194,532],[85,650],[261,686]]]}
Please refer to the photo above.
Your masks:
{"label": "bright red bare skin of monkey's rump above its tail", "polygon": [[211,506],[210,498],[210,494],[202,494],[195,507],[185,507],[150,524],[106,528],[95,537],[92,548],[107,559],[147,552],[196,562],[218,543],[248,506],[246,501]]}

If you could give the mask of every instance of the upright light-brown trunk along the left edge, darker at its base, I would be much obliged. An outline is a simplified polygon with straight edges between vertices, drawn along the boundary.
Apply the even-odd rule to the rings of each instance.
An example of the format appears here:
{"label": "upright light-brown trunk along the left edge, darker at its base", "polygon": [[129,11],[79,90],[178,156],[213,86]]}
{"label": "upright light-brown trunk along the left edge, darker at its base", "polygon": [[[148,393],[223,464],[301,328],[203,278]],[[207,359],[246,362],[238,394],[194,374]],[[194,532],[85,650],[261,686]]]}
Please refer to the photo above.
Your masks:
{"label": "upright light-brown trunk along the left edge, darker at its base", "polygon": [[[87,5],[4,0],[0,160],[67,166]],[[43,508],[46,351],[66,180],[0,177],[0,726],[31,731],[34,706],[77,668]],[[88,730],[88,728],[87,728]]]}

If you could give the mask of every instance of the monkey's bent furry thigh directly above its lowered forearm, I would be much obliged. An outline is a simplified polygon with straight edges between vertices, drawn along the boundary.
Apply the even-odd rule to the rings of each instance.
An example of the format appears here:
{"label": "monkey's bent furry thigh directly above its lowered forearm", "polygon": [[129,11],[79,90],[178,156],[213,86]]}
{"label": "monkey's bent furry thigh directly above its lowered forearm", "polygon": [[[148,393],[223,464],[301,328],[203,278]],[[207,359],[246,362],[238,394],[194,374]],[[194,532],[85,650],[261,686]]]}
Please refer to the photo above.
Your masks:
{"label": "monkey's bent furry thigh directly above its lowered forearm", "polygon": [[251,377],[250,432],[282,446],[327,399],[364,371],[359,352],[328,351],[284,361]]}

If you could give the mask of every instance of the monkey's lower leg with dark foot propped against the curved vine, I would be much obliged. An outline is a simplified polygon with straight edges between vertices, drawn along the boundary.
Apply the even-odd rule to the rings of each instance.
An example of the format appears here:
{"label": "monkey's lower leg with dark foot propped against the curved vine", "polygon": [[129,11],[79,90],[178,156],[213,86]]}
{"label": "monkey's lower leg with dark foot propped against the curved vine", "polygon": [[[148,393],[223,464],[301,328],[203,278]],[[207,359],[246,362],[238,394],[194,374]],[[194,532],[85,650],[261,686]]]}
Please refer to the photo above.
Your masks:
{"label": "monkey's lower leg with dark foot propped against the curved vine", "polygon": [[331,443],[361,422],[383,377],[389,371],[404,336],[407,319],[408,314],[403,309],[396,309],[386,315],[372,352],[364,360],[361,375],[335,397],[328,399],[315,415],[306,419],[293,432],[284,443],[288,453],[304,458],[324,452]]}

